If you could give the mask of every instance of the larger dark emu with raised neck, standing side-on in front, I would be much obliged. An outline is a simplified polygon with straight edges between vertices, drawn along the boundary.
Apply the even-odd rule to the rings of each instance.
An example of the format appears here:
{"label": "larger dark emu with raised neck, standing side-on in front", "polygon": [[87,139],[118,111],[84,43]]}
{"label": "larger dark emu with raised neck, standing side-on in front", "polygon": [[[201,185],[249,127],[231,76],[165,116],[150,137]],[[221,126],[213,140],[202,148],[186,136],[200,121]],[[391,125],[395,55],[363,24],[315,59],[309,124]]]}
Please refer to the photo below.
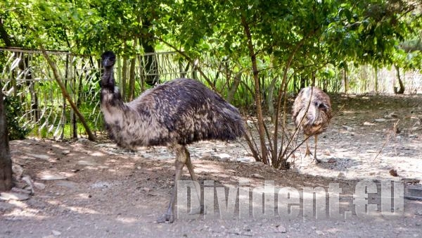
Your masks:
{"label": "larger dark emu with raised neck, standing side-on in front", "polygon": [[[176,79],[158,84],[134,101],[124,103],[115,87],[113,65],[115,54],[101,56],[104,71],[101,78],[101,111],[110,138],[119,146],[167,146],[176,154],[174,187],[170,204],[158,223],[174,221],[177,181],[186,165],[191,179],[198,182],[187,144],[207,139],[227,141],[241,137],[245,127],[237,108],[231,106],[204,84],[196,80]],[[196,184],[196,192],[200,187]]]}

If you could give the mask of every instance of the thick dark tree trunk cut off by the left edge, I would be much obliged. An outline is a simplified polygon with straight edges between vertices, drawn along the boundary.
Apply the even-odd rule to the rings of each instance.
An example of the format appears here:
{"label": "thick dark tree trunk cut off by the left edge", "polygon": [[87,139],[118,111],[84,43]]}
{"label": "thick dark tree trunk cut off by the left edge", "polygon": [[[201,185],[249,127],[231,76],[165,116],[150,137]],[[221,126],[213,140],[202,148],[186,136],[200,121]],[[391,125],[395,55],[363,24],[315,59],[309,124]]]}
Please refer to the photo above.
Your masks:
{"label": "thick dark tree trunk cut off by the left edge", "polygon": [[3,92],[1,92],[0,84],[0,191],[7,191],[12,187],[12,161],[8,146],[6,108],[3,103]]}

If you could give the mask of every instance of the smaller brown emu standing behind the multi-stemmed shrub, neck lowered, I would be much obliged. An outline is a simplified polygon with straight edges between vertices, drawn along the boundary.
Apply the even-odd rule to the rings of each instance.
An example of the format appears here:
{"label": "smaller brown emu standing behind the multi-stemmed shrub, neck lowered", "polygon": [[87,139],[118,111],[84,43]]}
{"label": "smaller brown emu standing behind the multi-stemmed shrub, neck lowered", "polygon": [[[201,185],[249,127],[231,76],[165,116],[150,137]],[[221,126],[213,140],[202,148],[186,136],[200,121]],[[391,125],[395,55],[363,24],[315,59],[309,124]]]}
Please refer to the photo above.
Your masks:
{"label": "smaller brown emu standing behind the multi-stemmed shrub, neck lowered", "polygon": [[319,88],[305,87],[300,90],[295,99],[292,116],[296,127],[306,136],[305,156],[311,154],[307,139],[313,135],[315,137],[314,160],[316,163],[321,162],[316,158],[316,143],[318,135],[326,130],[332,118],[330,97]]}

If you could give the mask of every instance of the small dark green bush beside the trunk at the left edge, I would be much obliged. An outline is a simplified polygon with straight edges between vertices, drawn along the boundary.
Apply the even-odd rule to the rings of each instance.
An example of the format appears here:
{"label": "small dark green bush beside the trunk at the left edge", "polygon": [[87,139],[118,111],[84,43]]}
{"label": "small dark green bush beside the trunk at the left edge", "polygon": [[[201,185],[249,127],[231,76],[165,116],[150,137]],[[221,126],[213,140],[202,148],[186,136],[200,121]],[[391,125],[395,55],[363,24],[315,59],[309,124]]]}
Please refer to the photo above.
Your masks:
{"label": "small dark green bush beside the trunk at the left edge", "polygon": [[23,116],[23,110],[17,97],[4,96],[4,108],[6,108],[6,122],[9,140],[25,139],[30,128],[20,125],[19,118]]}

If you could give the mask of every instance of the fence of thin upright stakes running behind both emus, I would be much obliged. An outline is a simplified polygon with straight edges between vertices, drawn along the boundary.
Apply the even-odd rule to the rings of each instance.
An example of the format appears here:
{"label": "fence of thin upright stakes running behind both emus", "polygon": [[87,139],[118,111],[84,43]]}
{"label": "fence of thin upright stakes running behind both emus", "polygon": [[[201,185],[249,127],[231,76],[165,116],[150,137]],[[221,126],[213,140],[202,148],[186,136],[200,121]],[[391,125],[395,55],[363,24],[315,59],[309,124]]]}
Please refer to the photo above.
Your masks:
{"label": "fence of thin upright stakes running behind both emus", "polygon": [[[47,51],[47,54],[56,63],[59,77],[91,131],[101,134],[103,120],[99,108],[99,57],[75,55],[68,51]],[[229,61],[218,61],[211,54],[204,55],[201,61],[203,73],[212,80],[212,86],[220,94],[230,99],[235,106],[253,107],[254,82],[248,68],[240,68]],[[205,82],[203,76],[196,71],[196,63],[186,61],[175,52],[143,54],[136,58],[120,56],[115,64],[115,77],[124,99],[128,101],[154,84],[177,77],[191,77]],[[270,107],[276,99],[275,94],[279,92],[282,70],[272,68],[262,72],[262,104]],[[41,51],[0,48],[0,73],[1,89],[20,102],[18,121],[23,127],[32,129],[32,136],[55,139],[84,136],[84,127],[65,100],[54,79],[53,70]],[[316,78],[316,85],[332,92],[344,92],[342,71],[334,70],[331,77],[320,74]],[[300,78],[295,79],[295,75],[290,78],[300,81]],[[402,79],[406,94],[422,92],[420,71],[402,73]],[[393,93],[396,84],[395,70],[374,70],[368,65],[351,68],[347,75],[348,93]],[[274,95],[270,96],[271,93]]]}

